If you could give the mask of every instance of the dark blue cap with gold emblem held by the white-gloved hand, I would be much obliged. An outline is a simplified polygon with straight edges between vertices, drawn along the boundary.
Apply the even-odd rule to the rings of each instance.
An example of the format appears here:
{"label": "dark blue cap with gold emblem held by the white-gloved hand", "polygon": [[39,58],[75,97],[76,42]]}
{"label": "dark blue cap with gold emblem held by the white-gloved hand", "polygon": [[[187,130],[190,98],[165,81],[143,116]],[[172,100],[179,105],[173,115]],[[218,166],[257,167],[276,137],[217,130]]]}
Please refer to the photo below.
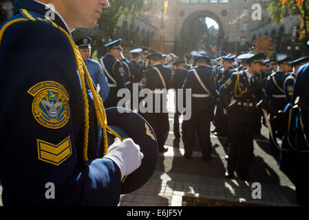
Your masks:
{"label": "dark blue cap with gold emblem held by the white-gloved hand", "polygon": [[[124,113],[120,113],[123,112]],[[131,138],[140,146],[142,164],[121,184],[121,194],[138,190],[151,178],[158,164],[158,142],[150,124],[138,113],[122,107],[105,109],[107,124],[123,138]],[[132,128],[134,126],[134,129]],[[147,132],[148,131],[148,132]],[[147,135],[148,133],[148,135]]]}

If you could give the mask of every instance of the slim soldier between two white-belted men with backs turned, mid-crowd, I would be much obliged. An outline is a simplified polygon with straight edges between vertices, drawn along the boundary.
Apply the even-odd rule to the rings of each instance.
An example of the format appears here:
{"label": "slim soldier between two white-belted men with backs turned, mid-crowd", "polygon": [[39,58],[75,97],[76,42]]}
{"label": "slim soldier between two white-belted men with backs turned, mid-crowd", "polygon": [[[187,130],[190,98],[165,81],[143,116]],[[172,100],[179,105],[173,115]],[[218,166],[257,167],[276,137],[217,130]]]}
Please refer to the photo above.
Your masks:
{"label": "slim soldier between two white-belted men with backs turned, mid-crowd", "polygon": [[[182,89],[184,79],[187,77],[188,70],[184,68],[184,61],[175,61],[173,63],[175,72],[172,74],[171,88],[175,89],[175,114],[174,114],[174,135],[176,139],[180,138],[179,132],[179,117],[181,113],[178,111],[178,89]],[[185,102],[183,102],[185,103]]]}

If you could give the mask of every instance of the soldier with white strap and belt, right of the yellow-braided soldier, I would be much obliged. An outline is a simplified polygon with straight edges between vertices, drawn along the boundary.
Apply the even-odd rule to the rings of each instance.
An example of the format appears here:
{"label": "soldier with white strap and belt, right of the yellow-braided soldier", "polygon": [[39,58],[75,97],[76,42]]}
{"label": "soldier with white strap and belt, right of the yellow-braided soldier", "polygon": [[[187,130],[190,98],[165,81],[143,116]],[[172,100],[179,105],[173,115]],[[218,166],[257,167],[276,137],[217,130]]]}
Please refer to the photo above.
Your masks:
{"label": "soldier with white strap and belt, right of the yellow-braided soldier", "polygon": [[[266,102],[274,107],[277,111],[283,111],[286,104],[288,104],[286,100],[286,95],[284,93],[284,80],[288,77],[288,67],[290,65],[290,61],[292,61],[292,57],[287,57],[277,61],[279,65],[277,71],[270,75],[268,80],[265,83],[265,98]],[[273,115],[270,115],[272,118]],[[281,121],[283,123],[283,121]],[[272,124],[273,135],[275,137],[282,138],[284,135],[284,124],[277,123]],[[274,137],[274,138],[275,138]],[[273,138],[270,138],[270,152],[277,151],[275,147],[276,143],[273,142]]]}

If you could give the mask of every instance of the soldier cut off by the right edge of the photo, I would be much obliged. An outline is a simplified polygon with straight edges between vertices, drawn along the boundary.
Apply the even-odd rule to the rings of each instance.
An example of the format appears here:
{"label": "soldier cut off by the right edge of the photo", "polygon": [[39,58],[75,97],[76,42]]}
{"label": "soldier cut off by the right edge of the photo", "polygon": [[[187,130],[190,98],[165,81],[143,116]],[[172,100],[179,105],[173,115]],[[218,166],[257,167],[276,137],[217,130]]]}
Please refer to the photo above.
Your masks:
{"label": "soldier cut off by the right edge of the photo", "polygon": [[295,156],[295,188],[297,203],[301,206],[309,205],[309,178],[308,178],[308,167],[309,167],[309,153],[300,151],[309,151],[308,138],[309,138],[309,64],[302,65],[298,69],[296,76],[294,89],[292,92],[292,103],[295,102],[296,98],[306,105],[306,109],[303,107],[297,113],[296,116],[296,144],[295,147],[298,150]]}

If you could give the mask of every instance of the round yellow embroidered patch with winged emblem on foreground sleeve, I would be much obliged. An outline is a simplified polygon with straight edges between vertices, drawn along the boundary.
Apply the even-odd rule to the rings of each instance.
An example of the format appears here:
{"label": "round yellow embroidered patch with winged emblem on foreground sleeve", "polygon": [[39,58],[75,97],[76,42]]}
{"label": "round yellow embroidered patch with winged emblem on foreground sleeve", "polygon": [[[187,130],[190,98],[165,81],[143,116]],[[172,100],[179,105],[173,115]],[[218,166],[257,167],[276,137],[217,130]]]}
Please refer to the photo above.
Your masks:
{"label": "round yellow embroidered patch with winged emblem on foreground sleeve", "polygon": [[60,129],[67,124],[70,97],[65,87],[53,81],[44,81],[31,87],[28,94],[34,97],[32,113],[36,122],[49,129]]}

